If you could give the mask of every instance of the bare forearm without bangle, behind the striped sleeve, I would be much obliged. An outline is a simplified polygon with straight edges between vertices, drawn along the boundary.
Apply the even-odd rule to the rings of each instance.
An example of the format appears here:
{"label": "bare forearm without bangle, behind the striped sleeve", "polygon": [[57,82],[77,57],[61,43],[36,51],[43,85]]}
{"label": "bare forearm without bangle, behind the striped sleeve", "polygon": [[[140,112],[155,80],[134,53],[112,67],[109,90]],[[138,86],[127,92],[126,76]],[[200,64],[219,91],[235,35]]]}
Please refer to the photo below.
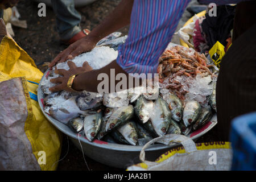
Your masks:
{"label": "bare forearm without bangle, behind the striped sleeve", "polygon": [[92,36],[92,38],[98,42],[105,36],[117,31],[119,28],[130,24],[133,2],[134,0],[122,0],[112,13],[90,32],[89,36]]}

